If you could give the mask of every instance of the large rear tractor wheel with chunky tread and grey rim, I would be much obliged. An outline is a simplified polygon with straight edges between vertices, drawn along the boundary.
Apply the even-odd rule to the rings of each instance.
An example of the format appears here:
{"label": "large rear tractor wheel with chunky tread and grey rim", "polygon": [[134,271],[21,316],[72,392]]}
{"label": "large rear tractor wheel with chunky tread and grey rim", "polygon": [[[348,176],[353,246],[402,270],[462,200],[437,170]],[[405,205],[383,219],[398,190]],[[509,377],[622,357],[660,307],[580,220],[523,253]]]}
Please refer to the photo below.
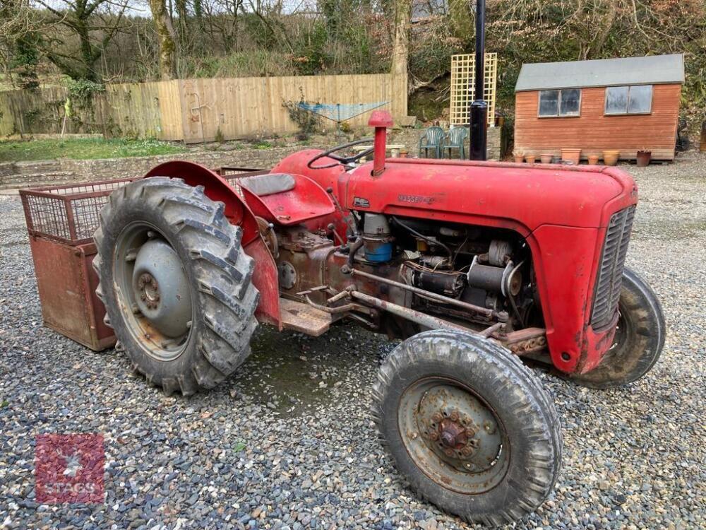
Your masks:
{"label": "large rear tractor wheel with chunky tread and grey rim", "polygon": [[203,187],[166,177],[127,184],[101,211],[94,240],[106,323],[150,382],[193,394],[249,355],[253,260]]}

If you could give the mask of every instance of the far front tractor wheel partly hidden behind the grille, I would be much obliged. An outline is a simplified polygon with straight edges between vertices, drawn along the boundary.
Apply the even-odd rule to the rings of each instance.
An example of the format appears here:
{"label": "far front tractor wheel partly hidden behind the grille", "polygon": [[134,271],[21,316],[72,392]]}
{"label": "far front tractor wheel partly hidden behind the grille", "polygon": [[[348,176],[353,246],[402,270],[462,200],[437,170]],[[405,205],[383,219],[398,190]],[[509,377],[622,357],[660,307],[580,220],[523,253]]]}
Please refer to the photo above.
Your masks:
{"label": "far front tractor wheel partly hidden behind the grille", "polygon": [[618,300],[618,328],[601,363],[570,378],[594,389],[621,387],[652,370],[664,347],[666,325],[662,306],[650,285],[626,267]]}

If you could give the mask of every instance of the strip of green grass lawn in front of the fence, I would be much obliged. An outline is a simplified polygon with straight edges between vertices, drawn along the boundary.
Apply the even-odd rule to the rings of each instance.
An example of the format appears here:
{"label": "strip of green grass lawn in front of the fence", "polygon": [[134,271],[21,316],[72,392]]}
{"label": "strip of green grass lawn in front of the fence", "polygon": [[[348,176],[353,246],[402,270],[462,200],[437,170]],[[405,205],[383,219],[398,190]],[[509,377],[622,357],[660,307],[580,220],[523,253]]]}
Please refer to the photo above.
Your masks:
{"label": "strip of green grass lawn in front of the fence", "polygon": [[0,141],[0,162],[73,158],[126,158],[129,156],[184,153],[184,147],[158,140],[71,138],[54,140]]}

